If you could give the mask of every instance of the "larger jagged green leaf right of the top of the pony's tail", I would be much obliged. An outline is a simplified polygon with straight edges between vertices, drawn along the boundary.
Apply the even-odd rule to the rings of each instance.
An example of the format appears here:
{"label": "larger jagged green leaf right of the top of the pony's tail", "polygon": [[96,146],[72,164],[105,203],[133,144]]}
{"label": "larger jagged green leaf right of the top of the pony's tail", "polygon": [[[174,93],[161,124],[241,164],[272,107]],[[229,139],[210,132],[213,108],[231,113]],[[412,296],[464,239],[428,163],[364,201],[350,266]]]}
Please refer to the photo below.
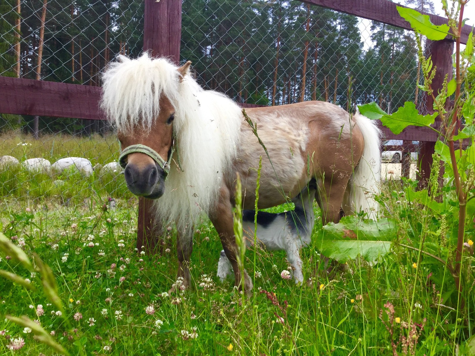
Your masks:
{"label": "larger jagged green leaf right of the top of the pony's tail", "polygon": [[410,125],[430,127],[436,117],[437,112],[432,115],[420,115],[414,103],[406,102],[397,112],[381,116],[381,123],[397,135]]}

